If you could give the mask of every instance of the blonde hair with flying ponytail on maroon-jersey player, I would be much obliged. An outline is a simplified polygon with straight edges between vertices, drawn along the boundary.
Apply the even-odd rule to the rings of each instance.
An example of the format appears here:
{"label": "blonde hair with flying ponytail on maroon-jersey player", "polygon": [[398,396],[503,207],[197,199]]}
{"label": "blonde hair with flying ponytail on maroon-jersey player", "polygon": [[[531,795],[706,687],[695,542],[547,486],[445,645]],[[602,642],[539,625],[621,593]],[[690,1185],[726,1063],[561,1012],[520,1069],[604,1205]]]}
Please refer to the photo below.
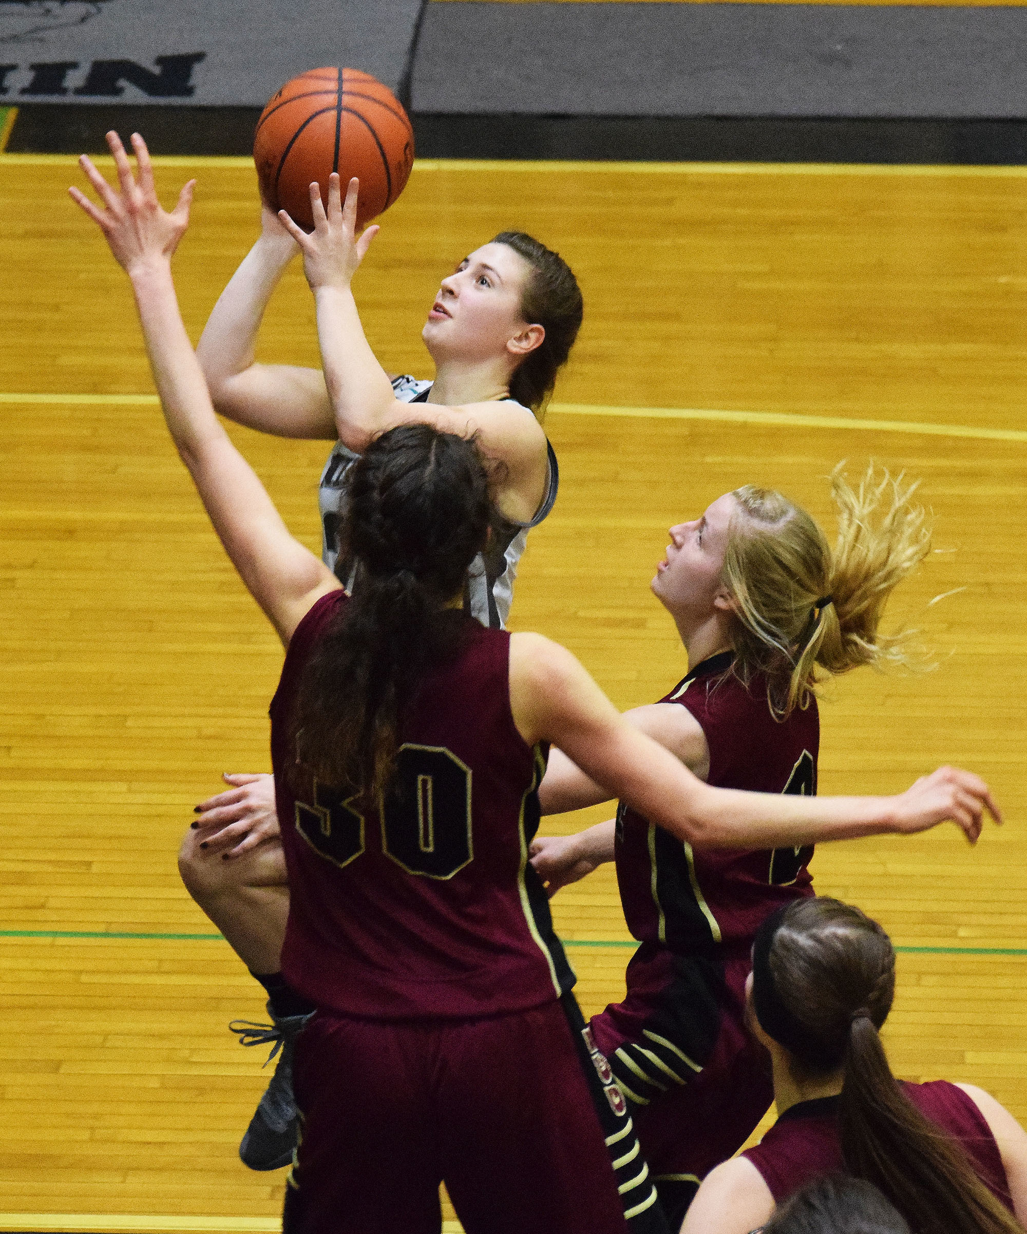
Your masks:
{"label": "blonde hair with flying ponytail on maroon-jersey player", "polygon": [[842,463],[831,475],[838,510],[832,553],[805,510],[779,492],[746,485],[733,494],[723,582],[734,605],[734,671],[765,674],[770,710],[807,707],[818,680],[870,664],[907,665],[906,636],[878,631],[892,590],[931,549],[927,512],[873,464],[853,489]]}

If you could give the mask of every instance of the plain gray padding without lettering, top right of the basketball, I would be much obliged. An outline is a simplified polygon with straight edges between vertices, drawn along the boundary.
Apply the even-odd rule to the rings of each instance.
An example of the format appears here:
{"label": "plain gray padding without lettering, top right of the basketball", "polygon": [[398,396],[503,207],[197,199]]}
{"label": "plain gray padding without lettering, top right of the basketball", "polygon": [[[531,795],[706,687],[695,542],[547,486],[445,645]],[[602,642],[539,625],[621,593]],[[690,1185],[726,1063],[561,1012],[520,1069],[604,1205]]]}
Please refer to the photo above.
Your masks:
{"label": "plain gray padding without lettering, top right of the basketball", "polygon": [[1027,116],[1027,9],[430,4],[421,112]]}

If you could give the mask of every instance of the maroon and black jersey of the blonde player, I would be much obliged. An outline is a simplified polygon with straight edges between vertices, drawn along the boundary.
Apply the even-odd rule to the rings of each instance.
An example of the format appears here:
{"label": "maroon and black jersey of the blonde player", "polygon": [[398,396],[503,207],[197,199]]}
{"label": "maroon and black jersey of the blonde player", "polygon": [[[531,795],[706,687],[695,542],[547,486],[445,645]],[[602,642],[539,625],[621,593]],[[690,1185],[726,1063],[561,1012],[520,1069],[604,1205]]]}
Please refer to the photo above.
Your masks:
{"label": "maroon and black jersey of the blonde player", "polygon": [[[817,787],[816,701],[784,721],[770,714],[767,681],[744,686],[732,653],[696,665],[660,702],[695,716],[710,748],[707,782],[717,789],[812,795]],[[617,882],[628,929],[642,943],[674,951],[712,945],[748,948],[781,903],[811,896],[812,848],[692,851],[623,803],[617,811]],[[643,948],[636,960],[641,960]],[[634,961],[633,961],[634,963]]]}

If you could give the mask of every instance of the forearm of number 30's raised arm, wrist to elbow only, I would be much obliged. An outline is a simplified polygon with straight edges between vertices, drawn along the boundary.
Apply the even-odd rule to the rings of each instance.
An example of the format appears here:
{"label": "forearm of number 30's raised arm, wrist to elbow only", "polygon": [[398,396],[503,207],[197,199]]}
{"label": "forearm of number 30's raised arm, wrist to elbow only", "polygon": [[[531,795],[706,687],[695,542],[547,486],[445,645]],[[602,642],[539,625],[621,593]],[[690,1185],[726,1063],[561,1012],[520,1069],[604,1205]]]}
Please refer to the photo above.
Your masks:
{"label": "forearm of number 30's raised arm, wrist to elbow only", "polygon": [[204,374],[185,332],[170,262],[132,271],[132,291],[164,420],[183,462],[194,471],[212,443],[225,438]]}

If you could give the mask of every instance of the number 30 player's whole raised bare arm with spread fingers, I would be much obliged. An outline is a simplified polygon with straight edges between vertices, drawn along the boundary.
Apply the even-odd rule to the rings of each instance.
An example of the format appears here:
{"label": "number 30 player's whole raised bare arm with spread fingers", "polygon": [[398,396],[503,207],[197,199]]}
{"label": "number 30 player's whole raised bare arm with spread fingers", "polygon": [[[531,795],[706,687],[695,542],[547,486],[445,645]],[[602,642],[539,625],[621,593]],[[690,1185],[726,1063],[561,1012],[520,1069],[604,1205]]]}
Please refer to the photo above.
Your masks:
{"label": "number 30 player's whole raised bare arm with spread fingers", "polygon": [[288,644],[311,605],[339,582],[290,534],[214,412],[172,279],[172,254],[189,225],[194,181],[185,185],[169,213],[157,199],[142,137],[132,135],[138,181],[116,133],[107,133],[107,144],[120,191],[107,184],[84,154],[80,165],[105,209],[98,209],[79,189],[69,193],[102,231],[115,259],[128,275],[172,439],[232,564]]}

